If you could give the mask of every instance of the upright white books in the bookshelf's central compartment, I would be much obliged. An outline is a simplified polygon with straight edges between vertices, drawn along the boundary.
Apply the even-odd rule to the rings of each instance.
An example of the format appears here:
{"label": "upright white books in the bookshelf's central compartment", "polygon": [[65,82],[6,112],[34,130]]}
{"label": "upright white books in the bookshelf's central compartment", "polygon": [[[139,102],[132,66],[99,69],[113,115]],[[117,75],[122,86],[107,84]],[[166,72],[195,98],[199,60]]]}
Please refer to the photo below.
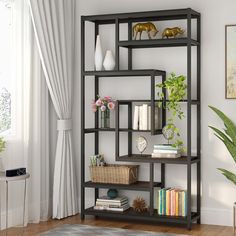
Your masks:
{"label": "upright white books in the bookshelf's central compartment", "polygon": [[[160,127],[159,123],[159,110],[155,109],[155,128]],[[151,130],[151,106],[143,104],[134,107],[134,118],[133,118],[133,129],[134,130]]]}

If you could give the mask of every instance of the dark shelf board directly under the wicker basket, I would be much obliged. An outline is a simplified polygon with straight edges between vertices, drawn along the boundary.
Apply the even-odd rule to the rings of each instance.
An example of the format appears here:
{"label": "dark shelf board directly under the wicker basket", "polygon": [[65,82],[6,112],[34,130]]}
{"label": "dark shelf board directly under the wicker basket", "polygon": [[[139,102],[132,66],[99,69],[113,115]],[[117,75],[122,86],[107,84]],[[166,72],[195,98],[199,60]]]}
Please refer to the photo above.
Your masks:
{"label": "dark shelf board directly under the wicker basket", "polygon": [[127,189],[134,191],[150,191],[153,187],[161,187],[161,183],[154,182],[152,186],[150,186],[150,182],[148,181],[138,181],[133,184],[109,184],[109,183],[94,183],[92,181],[85,182],[83,187],[88,188],[115,188],[115,189]]}

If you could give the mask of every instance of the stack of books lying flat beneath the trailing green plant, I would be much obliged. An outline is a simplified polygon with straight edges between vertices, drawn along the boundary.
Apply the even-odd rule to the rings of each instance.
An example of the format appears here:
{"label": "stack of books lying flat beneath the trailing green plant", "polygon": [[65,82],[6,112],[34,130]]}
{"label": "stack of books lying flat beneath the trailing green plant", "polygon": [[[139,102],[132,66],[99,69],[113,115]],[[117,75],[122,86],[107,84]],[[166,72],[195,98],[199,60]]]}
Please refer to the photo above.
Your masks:
{"label": "stack of books lying flat beneath the trailing green plant", "polygon": [[181,150],[168,144],[154,145],[153,158],[177,158],[181,156]]}

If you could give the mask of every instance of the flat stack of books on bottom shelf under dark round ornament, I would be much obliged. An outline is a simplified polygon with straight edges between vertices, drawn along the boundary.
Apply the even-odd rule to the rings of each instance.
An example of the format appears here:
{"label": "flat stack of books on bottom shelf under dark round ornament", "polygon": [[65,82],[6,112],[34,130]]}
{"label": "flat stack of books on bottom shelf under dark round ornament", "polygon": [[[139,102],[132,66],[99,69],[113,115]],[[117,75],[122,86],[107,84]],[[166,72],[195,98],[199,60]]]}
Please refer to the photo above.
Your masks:
{"label": "flat stack of books on bottom shelf under dark round ornament", "polygon": [[129,209],[128,198],[125,196],[116,198],[109,198],[107,196],[104,196],[97,199],[94,209],[123,212]]}

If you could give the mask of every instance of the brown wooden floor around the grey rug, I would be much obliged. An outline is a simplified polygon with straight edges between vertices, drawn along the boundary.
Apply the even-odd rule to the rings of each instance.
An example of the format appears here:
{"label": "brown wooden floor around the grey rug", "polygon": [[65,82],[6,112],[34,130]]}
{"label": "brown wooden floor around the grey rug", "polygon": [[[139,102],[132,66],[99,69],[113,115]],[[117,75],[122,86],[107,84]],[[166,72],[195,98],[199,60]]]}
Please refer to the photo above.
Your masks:
{"label": "brown wooden floor around the grey rug", "polygon": [[84,221],[81,221],[79,215],[68,217],[64,220],[49,220],[47,222],[41,222],[40,224],[29,224],[26,228],[24,228],[24,233],[22,232],[22,228],[11,228],[8,229],[7,231],[2,231],[0,235],[33,236],[63,224],[87,224],[101,227],[117,227],[123,229],[146,230],[153,232],[168,232],[168,233],[197,235],[197,236],[233,236],[232,227],[225,227],[225,226],[193,225],[193,229],[189,231],[182,227],[168,227],[163,225],[156,226],[148,223],[142,224],[142,223],[134,223],[134,222],[132,223],[125,221],[94,219],[93,217],[86,217]]}

